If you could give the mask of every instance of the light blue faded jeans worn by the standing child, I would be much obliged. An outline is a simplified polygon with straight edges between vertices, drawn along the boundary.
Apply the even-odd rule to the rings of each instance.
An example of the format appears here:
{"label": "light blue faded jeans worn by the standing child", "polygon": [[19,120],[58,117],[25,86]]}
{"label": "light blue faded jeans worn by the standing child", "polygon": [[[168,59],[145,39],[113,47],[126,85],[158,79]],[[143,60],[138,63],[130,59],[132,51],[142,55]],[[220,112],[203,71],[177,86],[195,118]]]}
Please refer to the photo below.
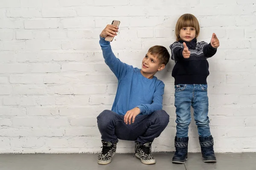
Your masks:
{"label": "light blue faded jeans worn by the standing child", "polygon": [[207,85],[175,85],[176,136],[188,137],[191,122],[190,107],[194,109],[195,124],[200,137],[210,136]]}

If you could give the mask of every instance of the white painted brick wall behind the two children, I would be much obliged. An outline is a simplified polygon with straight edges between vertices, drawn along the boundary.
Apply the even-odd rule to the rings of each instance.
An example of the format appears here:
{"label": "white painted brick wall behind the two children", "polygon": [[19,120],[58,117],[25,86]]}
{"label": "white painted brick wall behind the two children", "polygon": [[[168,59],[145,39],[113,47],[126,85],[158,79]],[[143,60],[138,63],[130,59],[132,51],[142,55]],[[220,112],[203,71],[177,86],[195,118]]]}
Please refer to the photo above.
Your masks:
{"label": "white painted brick wall behind the two children", "polygon": [[[105,65],[99,34],[120,20],[111,43],[123,62],[140,67],[152,45],[175,41],[175,23],[192,13],[199,40],[215,32],[209,59],[209,117],[216,152],[256,151],[255,0],[0,0],[0,153],[100,151],[96,116],[111,109],[117,81]],[[165,84],[169,126],[154,151],[173,151],[174,62],[157,73]],[[198,152],[195,122],[189,151]],[[120,141],[118,152],[133,152]]]}

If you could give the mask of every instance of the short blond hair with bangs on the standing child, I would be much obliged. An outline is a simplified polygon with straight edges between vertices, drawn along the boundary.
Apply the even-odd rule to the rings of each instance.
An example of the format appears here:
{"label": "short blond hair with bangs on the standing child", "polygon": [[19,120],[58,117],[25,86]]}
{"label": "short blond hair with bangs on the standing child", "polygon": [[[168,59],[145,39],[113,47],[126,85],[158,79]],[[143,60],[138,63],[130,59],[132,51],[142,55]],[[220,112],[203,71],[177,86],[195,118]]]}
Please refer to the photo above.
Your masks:
{"label": "short blond hair with bangs on the standing child", "polygon": [[181,40],[180,38],[180,30],[183,27],[193,27],[195,28],[195,38],[198,37],[200,33],[200,26],[198,23],[197,18],[192,15],[192,14],[183,14],[180,16],[176,23],[176,28],[175,28],[175,34],[176,34],[176,41]]}

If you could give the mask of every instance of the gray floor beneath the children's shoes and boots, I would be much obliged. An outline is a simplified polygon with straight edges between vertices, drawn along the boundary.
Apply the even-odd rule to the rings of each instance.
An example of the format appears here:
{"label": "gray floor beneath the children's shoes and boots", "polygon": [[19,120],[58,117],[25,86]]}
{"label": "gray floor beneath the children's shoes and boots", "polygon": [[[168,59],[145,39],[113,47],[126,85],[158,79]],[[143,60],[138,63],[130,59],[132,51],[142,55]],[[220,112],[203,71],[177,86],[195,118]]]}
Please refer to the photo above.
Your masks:
{"label": "gray floor beneath the children's shoes and boots", "polygon": [[0,170],[256,170],[256,153],[217,153],[217,163],[189,153],[185,164],[172,164],[172,155],[155,153],[157,163],[145,165],[133,154],[116,154],[110,164],[99,165],[94,154],[3,154]]}

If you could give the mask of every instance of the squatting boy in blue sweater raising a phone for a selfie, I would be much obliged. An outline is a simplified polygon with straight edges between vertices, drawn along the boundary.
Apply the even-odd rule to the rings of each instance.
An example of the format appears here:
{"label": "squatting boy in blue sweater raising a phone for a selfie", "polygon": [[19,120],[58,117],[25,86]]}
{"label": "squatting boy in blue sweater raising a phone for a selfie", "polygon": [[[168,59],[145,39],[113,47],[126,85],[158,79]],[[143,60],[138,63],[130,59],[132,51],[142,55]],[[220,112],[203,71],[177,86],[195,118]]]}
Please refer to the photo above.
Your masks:
{"label": "squatting boy in blue sweater raising a phone for a selfie", "polygon": [[151,144],[169,123],[169,115],[162,110],[165,85],[154,74],[165,68],[170,54],[163,46],[153,46],[143,58],[142,68],[133,68],[117,59],[110,42],[105,41],[108,35],[115,37],[116,32],[116,26],[106,26],[99,41],[118,87],[111,111],[105,110],[97,117],[103,145],[98,164],[111,162],[118,139],[135,141],[135,155],[144,164],[154,164]]}

